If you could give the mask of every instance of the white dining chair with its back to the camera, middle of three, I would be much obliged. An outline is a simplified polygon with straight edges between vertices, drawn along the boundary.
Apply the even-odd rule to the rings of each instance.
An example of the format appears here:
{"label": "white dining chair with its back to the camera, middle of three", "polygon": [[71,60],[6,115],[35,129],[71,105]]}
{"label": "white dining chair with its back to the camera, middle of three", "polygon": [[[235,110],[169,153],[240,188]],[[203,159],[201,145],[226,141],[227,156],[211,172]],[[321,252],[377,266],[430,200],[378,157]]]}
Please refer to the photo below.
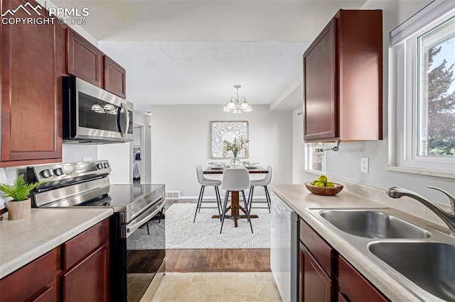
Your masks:
{"label": "white dining chair with its back to the camera, middle of three", "polygon": [[[243,203],[245,205],[245,212],[247,220],[250,223],[251,233],[253,233],[253,226],[251,224],[250,210],[248,209],[248,201],[245,198],[245,190],[250,188],[250,173],[245,168],[228,168],[223,171],[223,180],[221,181],[221,189],[226,190],[225,202],[221,211],[223,216],[221,219],[220,234],[223,231],[223,223],[225,222],[226,209],[228,208],[228,197],[230,192],[242,192]],[[232,195],[232,194],[231,194]]]}

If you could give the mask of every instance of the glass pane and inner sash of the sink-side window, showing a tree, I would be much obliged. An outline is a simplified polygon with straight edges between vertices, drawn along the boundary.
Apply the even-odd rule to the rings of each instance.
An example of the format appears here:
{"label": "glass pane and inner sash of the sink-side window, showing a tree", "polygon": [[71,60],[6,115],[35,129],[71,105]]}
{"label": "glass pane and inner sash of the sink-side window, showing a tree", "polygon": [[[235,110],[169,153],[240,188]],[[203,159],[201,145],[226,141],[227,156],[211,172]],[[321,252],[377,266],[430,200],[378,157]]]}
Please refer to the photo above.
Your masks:
{"label": "glass pane and inner sash of the sink-side window, showing a tree", "polygon": [[417,156],[455,156],[455,17],[417,39]]}

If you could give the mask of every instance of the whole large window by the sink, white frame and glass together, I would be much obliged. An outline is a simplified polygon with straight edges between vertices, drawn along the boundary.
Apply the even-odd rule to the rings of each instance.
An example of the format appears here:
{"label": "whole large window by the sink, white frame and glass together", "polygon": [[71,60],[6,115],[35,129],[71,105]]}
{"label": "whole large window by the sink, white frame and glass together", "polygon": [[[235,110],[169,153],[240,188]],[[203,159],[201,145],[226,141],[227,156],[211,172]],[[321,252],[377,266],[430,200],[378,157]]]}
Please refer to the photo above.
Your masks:
{"label": "whole large window by the sink, white frame and glass together", "polygon": [[455,4],[392,30],[389,169],[455,178]]}

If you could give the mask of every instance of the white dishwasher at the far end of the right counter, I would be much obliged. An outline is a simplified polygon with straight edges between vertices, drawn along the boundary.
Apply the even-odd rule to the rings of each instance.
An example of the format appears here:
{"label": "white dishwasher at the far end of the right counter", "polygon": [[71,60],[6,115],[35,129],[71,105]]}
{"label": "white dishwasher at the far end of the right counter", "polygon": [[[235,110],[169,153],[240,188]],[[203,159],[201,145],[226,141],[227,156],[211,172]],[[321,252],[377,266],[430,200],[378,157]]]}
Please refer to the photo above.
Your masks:
{"label": "white dishwasher at the far end of the right counter", "polygon": [[299,274],[299,216],[272,193],[270,269],[283,302],[296,302]]}

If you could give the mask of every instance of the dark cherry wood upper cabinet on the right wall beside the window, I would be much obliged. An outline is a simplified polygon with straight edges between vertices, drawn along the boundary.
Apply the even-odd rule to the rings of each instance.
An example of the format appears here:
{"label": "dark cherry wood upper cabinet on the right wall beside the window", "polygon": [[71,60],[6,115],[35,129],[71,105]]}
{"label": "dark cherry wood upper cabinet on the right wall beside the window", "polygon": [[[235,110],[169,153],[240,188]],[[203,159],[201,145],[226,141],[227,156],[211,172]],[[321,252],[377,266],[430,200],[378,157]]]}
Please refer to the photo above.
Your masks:
{"label": "dark cherry wood upper cabinet on the right wall beside the window", "polygon": [[382,140],[382,11],[338,11],[304,53],[304,140]]}

